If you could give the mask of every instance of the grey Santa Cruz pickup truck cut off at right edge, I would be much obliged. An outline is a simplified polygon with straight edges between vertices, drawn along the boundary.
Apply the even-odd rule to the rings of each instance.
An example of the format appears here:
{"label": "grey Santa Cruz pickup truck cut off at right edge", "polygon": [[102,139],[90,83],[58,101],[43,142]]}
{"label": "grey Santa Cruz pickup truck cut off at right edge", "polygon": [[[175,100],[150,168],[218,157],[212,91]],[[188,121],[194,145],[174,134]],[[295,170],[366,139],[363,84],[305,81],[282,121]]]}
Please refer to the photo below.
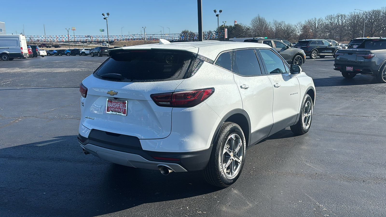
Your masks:
{"label": "grey Santa Cruz pickup truck cut off at right edge", "polygon": [[345,78],[371,75],[386,83],[386,38],[365,39],[356,48],[337,51],[334,66]]}

